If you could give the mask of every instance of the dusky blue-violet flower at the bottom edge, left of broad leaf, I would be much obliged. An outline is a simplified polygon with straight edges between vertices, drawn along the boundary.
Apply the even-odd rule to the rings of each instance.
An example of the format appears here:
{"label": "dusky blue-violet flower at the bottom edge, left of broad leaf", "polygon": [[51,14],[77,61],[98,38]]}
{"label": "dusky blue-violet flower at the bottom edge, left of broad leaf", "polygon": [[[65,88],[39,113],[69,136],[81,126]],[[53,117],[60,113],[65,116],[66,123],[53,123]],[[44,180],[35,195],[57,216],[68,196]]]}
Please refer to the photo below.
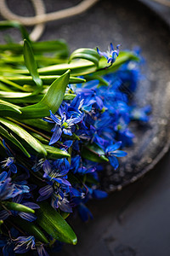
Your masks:
{"label": "dusky blue-violet flower at the bottom edge, left of broad leaf", "polygon": [[26,253],[30,249],[36,249],[34,236],[19,236],[14,242],[14,253]]}

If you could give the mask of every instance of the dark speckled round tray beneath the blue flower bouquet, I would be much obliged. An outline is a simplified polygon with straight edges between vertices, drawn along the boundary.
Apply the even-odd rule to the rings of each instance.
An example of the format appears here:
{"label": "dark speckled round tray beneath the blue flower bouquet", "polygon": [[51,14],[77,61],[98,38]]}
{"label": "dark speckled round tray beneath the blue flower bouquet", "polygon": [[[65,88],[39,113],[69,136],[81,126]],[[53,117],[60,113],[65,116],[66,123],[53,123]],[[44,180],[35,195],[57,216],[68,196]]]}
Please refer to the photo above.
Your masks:
{"label": "dark speckled round tray beneath the blue flower bouquet", "polygon": [[[75,4],[65,4],[61,8]],[[48,1],[48,10],[59,9],[58,3]],[[60,3],[61,4],[61,3]],[[56,6],[55,6],[56,5]],[[105,50],[112,42],[122,49],[142,49],[145,64],[144,78],[134,97],[140,107],[150,104],[151,119],[143,127],[133,125],[133,147],[127,148],[119,169],[107,166],[101,174],[101,187],[106,191],[122,189],[133,183],[167,152],[170,144],[170,30],[165,21],[138,1],[111,1],[97,3],[87,13],[60,20],[47,26],[42,39],[64,38],[71,47],[96,47]]]}

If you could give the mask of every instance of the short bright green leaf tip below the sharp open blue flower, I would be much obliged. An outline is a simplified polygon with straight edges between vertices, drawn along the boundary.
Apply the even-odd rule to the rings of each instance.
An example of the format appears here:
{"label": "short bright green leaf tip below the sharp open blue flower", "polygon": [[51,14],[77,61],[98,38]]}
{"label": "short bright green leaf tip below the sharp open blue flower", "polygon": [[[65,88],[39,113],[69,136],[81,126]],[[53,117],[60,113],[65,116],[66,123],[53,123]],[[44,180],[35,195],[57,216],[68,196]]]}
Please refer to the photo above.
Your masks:
{"label": "short bright green leaf tip below the sharp open blue flower", "polygon": [[54,148],[48,145],[43,145],[46,151],[48,152],[48,159],[56,160],[58,158],[70,157],[66,151],[61,150],[59,148]]}

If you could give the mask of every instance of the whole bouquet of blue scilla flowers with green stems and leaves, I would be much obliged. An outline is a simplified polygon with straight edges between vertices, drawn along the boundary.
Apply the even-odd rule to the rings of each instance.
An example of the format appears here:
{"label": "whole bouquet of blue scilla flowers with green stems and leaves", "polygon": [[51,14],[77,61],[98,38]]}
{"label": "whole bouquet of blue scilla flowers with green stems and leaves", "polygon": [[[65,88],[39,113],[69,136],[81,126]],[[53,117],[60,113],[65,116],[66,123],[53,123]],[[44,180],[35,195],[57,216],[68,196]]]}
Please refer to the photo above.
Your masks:
{"label": "whole bouquet of blue scilla flowers with green stems and leaves", "polygon": [[107,196],[100,175],[106,165],[119,172],[129,124],[149,119],[132,97],[141,58],[113,44],[69,55],[62,40],[35,43],[17,22],[0,26],[23,36],[0,45],[0,247],[48,255],[77,244],[68,216],[92,218],[86,203]]}

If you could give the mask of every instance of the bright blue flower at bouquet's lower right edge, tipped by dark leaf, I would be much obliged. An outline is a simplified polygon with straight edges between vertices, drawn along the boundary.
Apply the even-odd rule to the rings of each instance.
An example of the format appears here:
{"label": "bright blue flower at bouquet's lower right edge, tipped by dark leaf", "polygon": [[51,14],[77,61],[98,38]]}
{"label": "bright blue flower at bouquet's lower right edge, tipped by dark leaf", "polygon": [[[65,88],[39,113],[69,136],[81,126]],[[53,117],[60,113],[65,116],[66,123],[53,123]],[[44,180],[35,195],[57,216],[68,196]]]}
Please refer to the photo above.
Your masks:
{"label": "bright blue flower at bouquet's lower right edge, tipped by dark leaf", "polygon": [[108,146],[105,149],[106,156],[110,160],[111,166],[113,166],[115,170],[119,166],[119,162],[116,159],[116,157],[122,157],[122,156],[127,155],[126,152],[124,152],[122,150],[117,150],[118,148],[121,147],[121,145],[122,145],[122,142],[118,142],[118,143],[115,143],[115,144],[112,144],[112,145]]}

